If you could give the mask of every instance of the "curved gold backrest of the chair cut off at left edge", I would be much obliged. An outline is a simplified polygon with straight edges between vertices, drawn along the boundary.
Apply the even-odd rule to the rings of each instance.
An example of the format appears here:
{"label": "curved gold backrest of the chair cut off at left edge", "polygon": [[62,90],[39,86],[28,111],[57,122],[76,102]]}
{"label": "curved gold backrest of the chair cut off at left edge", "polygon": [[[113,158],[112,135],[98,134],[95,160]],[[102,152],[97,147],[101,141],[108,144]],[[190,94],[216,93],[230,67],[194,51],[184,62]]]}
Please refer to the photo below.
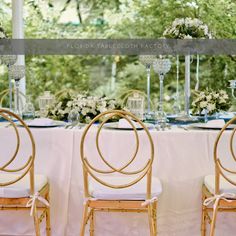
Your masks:
{"label": "curved gold backrest of the chair cut off at left edge", "polygon": [[[34,159],[35,159],[35,142],[34,142],[33,135],[30,129],[28,128],[28,126],[25,124],[25,122],[19,116],[12,113],[11,111],[0,108],[0,117],[9,122],[10,126],[8,128],[9,129],[12,128],[14,130],[15,137],[16,137],[16,147],[13,152],[13,155],[4,164],[1,163],[1,166],[0,166],[1,173],[15,174],[15,177],[7,181],[2,181],[0,179],[0,187],[14,184],[17,181],[21,180],[24,176],[26,176],[27,173],[30,173],[30,190],[31,190],[31,193],[33,194],[34,193]],[[12,167],[12,165],[14,165],[15,161],[17,160],[19,156],[20,147],[22,145],[21,135],[19,132],[19,126],[21,127],[21,129],[24,129],[26,131],[26,134],[29,137],[30,154],[29,154],[29,157],[26,158],[26,161],[22,164],[22,166],[14,168]]]}

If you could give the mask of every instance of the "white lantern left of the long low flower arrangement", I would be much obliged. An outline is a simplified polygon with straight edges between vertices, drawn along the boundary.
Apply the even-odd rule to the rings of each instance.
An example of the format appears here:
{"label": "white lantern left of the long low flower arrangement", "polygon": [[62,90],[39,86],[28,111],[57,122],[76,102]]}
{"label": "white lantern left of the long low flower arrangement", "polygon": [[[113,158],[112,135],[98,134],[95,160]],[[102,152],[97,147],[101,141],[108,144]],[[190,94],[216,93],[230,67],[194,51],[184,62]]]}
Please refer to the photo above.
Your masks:
{"label": "white lantern left of the long low flower arrangement", "polygon": [[38,102],[40,117],[46,117],[48,108],[55,103],[55,96],[50,91],[45,91],[42,96],[39,96]]}

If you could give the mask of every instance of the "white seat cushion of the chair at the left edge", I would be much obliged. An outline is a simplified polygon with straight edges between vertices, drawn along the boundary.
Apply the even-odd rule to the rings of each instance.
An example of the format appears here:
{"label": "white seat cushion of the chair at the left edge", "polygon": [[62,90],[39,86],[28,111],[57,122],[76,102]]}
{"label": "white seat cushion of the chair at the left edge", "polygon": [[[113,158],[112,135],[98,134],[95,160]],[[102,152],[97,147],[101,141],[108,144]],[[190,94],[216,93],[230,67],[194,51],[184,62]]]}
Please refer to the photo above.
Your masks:
{"label": "white seat cushion of the chair at the left edge", "polygon": [[[0,182],[8,182],[16,179],[15,174],[0,174]],[[47,184],[47,177],[43,175],[35,175],[35,192],[40,191]],[[30,196],[30,177],[26,175],[18,182],[0,187],[1,198],[21,198]]]}

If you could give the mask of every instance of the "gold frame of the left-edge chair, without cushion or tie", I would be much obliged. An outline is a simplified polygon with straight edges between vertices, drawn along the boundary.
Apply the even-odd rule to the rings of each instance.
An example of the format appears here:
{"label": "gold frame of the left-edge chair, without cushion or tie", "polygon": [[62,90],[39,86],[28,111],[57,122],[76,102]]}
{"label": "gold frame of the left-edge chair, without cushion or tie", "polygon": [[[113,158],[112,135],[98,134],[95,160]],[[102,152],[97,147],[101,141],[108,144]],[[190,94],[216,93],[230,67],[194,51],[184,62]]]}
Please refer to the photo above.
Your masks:
{"label": "gold frame of the left-edge chair, without cushion or tie", "polygon": [[[29,127],[25,124],[25,122],[16,114],[12,113],[9,110],[6,109],[0,109],[0,116],[2,116],[6,121],[10,122],[11,127],[13,127],[17,144],[15,152],[12,156],[12,158],[3,166],[0,167],[0,171],[7,172],[7,173],[18,173],[16,179],[8,182],[1,182],[0,180],[0,187],[9,186],[11,184],[16,183],[17,181],[21,180],[23,177],[25,177],[27,174],[29,174],[30,177],[30,195],[33,196],[35,194],[35,183],[34,183],[34,160],[35,160],[35,141],[33,138],[33,135],[29,129]],[[20,123],[20,125],[26,130],[31,143],[31,150],[32,153],[26,162],[22,167],[13,169],[8,168],[8,166],[14,162],[14,160],[17,157],[17,153],[20,149],[20,135],[17,128],[17,125],[15,122],[12,121],[11,117],[14,119],[17,119]],[[21,171],[19,173],[19,171]],[[49,183],[47,183],[40,191],[39,195],[45,198],[49,202]],[[27,203],[30,200],[29,197],[22,197],[22,198],[0,198],[0,210],[28,210],[29,207],[27,207]],[[39,215],[38,212],[41,212]],[[43,205],[38,200],[36,200],[36,204],[33,208],[33,219],[34,219],[34,227],[35,227],[35,234],[36,236],[40,236],[40,223],[45,218],[46,220],[46,235],[51,235],[51,229],[50,229],[50,207]]]}

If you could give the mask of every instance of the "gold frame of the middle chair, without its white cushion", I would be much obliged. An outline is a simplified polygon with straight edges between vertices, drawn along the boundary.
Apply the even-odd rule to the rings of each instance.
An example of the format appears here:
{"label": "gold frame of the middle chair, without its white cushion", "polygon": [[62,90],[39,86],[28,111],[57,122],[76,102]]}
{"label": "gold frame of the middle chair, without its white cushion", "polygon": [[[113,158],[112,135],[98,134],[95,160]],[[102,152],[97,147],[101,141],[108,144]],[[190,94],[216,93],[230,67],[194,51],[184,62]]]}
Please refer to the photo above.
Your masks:
{"label": "gold frame of the middle chair, without its white cushion", "polygon": [[[135,137],[136,137],[136,151],[134,156],[131,158],[131,160],[124,165],[123,167],[117,169],[110,165],[105,158],[103,157],[100,148],[99,148],[99,134],[100,131],[109,119],[111,119],[113,116],[116,117],[122,117],[125,118],[129,124],[132,126],[132,129],[134,130]],[[96,146],[98,153],[103,160],[103,162],[109,167],[110,170],[105,171],[105,170],[100,170],[95,167],[93,167],[87,160],[85,153],[84,153],[84,142],[85,142],[85,137],[90,129],[90,127],[94,124],[94,122],[99,121],[102,117],[106,117],[101,124],[98,127],[97,135],[96,135]],[[130,121],[128,117],[131,117],[132,119],[136,120],[144,129],[146,132],[148,139],[150,141],[150,148],[151,148],[151,155],[150,159],[144,166],[144,168],[137,170],[137,171],[132,171],[128,172],[125,171],[125,168],[127,168],[135,159],[136,154],[138,152],[139,148],[139,139],[138,139],[138,134],[137,130]],[[92,177],[95,181],[100,183],[101,185],[113,188],[113,189],[122,189],[122,188],[128,188],[137,182],[139,182],[142,178],[147,176],[147,190],[146,190],[146,199],[151,199],[151,180],[152,180],[152,163],[154,159],[154,145],[153,141],[151,138],[151,135],[148,131],[148,129],[145,127],[145,125],[138,119],[136,118],[133,114],[127,111],[121,111],[121,110],[113,110],[113,111],[107,111],[103,112],[97,117],[95,117],[85,128],[81,143],[80,143],[80,155],[81,155],[81,160],[83,163],[83,174],[84,174],[84,197],[87,199],[84,204],[84,209],[83,209],[83,220],[81,224],[81,230],[80,230],[80,236],[83,236],[85,233],[85,227],[88,221],[90,221],[90,235],[94,235],[94,215],[95,212],[97,211],[105,211],[105,212],[146,212],[148,213],[148,219],[149,219],[149,227],[150,227],[150,235],[156,236],[157,235],[157,223],[156,223],[156,212],[157,212],[157,201],[147,204],[147,205],[142,205],[142,203],[145,202],[145,200],[99,200],[93,198],[90,193],[89,193],[89,187],[88,187],[88,177]],[[96,172],[98,174],[109,174],[109,173],[119,173],[119,174],[124,174],[124,175],[132,175],[132,174],[139,174],[143,172],[137,179],[134,181],[128,183],[128,184],[123,184],[123,185],[114,185],[110,184],[107,182],[104,182],[100,178],[98,178],[93,172]]]}

